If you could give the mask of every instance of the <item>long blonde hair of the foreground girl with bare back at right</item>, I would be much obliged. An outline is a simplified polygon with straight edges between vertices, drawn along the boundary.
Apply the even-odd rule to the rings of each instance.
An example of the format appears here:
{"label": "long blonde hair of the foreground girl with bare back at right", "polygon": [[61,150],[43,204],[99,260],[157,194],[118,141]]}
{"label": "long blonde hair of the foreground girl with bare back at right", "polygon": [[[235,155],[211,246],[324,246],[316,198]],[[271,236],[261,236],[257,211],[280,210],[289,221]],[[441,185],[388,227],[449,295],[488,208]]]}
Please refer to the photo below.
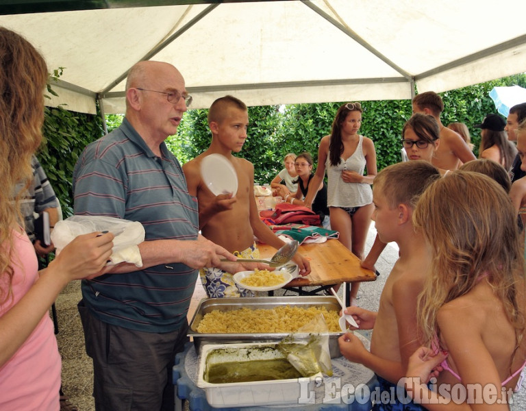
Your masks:
{"label": "long blonde hair of the foreground girl with bare back at right", "polygon": [[516,330],[516,349],[525,332],[524,258],[510,198],[493,179],[455,171],[434,182],[416,204],[432,253],[429,276],[418,301],[423,341],[440,341],[438,310],[473,290],[487,275]]}

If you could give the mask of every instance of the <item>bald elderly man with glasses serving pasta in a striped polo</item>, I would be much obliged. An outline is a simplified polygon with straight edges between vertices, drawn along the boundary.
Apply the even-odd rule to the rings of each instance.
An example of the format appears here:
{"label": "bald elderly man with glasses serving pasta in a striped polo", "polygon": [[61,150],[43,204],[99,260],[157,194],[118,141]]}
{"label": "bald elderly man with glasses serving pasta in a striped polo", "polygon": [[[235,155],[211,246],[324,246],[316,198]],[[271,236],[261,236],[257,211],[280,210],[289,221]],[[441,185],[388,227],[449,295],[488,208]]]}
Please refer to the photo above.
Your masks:
{"label": "bald elderly man with glasses serving pasta in a striped polo", "polygon": [[197,201],[164,143],[191,101],[174,66],[139,62],[128,73],[121,127],[88,145],[75,166],[75,214],[139,221],[146,231],[142,266],[119,264],[82,283],[79,312],[98,411],[173,410],[171,369],[187,340],[197,269],[268,267],[238,264],[198,232]]}

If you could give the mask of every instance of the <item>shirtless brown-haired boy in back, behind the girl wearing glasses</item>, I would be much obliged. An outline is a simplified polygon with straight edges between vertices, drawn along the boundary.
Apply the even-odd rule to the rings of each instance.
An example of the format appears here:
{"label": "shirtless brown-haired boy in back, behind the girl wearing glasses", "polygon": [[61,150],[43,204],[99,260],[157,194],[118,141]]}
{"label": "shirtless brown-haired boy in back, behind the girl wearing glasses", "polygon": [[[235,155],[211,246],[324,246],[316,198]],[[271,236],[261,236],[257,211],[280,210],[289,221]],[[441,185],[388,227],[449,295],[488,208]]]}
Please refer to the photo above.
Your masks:
{"label": "shirtless brown-haired boy in back, behind the girl wearing glasses", "polygon": [[440,121],[440,113],[444,111],[442,98],[433,91],[426,91],[416,95],[412,101],[413,113],[430,114],[434,116],[440,126],[440,145],[436,149],[433,165],[443,170],[455,170],[462,163],[475,160],[475,154],[464,139],[444,127]]}

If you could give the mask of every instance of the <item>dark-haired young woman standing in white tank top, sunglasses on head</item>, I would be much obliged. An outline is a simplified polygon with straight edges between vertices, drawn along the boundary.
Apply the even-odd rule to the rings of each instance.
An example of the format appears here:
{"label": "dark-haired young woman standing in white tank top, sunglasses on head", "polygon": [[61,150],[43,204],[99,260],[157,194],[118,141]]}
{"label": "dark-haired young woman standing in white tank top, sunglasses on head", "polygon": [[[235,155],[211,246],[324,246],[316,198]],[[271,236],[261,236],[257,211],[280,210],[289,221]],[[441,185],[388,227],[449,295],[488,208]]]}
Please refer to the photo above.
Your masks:
{"label": "dark-haired young woman standing in white tank top, sunglasses on head", "polygon": [[[332,131],[321,139],[315,184],[327,171],[327,206],[331,229],[340,232],[340,242],[362,259],[371,214],[371,184],[377,174],[375,145],[371,138],[358,134],[362,125],[362,105],[343,104],[336,112]],[[305,203],[312,203],[311,194]],[[355,305],[360,283],[351,287],[351,305]]]}

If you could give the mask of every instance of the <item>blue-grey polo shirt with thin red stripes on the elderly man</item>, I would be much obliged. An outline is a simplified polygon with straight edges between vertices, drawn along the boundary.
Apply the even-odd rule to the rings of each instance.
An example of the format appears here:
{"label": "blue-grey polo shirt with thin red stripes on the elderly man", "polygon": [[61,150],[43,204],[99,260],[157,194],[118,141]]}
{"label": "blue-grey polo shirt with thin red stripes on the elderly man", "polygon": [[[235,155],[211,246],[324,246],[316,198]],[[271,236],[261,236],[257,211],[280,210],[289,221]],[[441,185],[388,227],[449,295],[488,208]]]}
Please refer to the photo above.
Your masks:
{"label": "blue-grey polo shirt with thin red stripes on the elderly man", "polygon": [[[149,149],[124,119],[84,149],[73,171],[75,214],[140,221],[146,240],[195,240],[197,199],[188,194],[181,165],[160,146]],[[173,262],[82,281],[86,306],[105,323],[142,332],[171,332],[185,321],[197,271]]]}

